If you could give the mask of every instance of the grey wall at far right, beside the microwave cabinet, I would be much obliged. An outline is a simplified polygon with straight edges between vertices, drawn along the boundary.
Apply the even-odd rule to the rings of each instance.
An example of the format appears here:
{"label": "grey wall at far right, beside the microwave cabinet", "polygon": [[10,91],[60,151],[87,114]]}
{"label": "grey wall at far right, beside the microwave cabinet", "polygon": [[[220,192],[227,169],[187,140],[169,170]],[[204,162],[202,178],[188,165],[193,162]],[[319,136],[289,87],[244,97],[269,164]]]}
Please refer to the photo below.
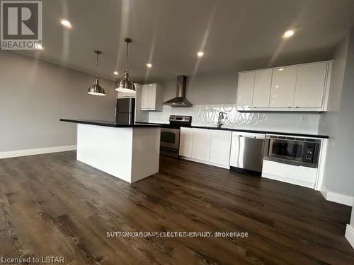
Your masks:
{"label": "grey wall at far right, beside the microwave cabinet", "polygon": [[354,196],[354,30],[337,49],[329,100],[331,111],[319,124],[319,132],[331,136],[324,186]]}

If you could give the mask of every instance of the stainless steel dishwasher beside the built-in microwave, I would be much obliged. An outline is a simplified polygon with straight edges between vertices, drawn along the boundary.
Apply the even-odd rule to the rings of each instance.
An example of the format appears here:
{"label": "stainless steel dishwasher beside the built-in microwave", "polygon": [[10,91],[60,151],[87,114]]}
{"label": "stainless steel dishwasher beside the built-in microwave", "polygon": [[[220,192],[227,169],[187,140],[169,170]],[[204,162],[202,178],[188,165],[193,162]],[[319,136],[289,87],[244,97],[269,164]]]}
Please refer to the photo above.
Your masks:
{"label": "stainless steel dishwasher beside the built-in microwave", "polygon": [[232,132],[230,169],[261,175],[265,134]]}

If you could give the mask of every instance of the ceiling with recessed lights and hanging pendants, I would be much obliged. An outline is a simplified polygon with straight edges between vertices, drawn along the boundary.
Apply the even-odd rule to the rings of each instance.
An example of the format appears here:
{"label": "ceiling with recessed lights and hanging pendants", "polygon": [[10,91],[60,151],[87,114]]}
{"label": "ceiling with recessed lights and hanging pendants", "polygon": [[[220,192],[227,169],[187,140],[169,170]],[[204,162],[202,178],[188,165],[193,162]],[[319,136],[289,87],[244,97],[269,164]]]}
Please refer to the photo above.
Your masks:
{"label": "ceiling with recessed lights and hanging pendants", "polygon": [[[114,78],[124,71],[128,35],[133,81],[330,59],[354,25],[353,0],[42,2],[44,49],[22,53],[92,73],[93,49],[101,49],[100,73]],[[63,28],[61,18],[73,28]],[[290,28],[295,35],[283,40]]]}

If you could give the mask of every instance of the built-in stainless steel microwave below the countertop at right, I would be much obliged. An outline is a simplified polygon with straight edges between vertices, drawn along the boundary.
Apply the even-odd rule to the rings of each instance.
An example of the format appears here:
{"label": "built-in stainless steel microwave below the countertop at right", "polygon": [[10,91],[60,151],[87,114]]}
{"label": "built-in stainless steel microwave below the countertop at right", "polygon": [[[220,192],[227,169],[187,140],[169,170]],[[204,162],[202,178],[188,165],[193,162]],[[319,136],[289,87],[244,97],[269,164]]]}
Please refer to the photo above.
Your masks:
{"label": "built-in stainless steel microwave below the countertop at right", "polygon": [[265,136],[263,158],[278,163],[317,167],[321,140],[287,136]]}

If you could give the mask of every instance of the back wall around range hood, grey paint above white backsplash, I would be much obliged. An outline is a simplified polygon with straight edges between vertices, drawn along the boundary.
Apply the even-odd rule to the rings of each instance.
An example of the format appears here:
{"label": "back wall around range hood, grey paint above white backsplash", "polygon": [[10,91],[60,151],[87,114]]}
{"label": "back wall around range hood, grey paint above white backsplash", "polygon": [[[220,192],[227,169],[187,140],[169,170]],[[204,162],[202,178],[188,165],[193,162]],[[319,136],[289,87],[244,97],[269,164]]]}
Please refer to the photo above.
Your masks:
{"label": "back wall around range hood, grey paint above white backsplash", "polygon": [[[219,111],[227,112],[224,127],[261,131],[284,131],[300,134],[317,134],[318,113],[256,113],[236,111],[236,88],[238,74],[215,73],[187,78],[186,98],[193,107],[170,107],[164,105],[162,112],[149,112],[149,122],[169,123],[169,115],[192,116],[195,126],[216,126]],[[176,79],[161,82],[164,101],[176,97]]]}

